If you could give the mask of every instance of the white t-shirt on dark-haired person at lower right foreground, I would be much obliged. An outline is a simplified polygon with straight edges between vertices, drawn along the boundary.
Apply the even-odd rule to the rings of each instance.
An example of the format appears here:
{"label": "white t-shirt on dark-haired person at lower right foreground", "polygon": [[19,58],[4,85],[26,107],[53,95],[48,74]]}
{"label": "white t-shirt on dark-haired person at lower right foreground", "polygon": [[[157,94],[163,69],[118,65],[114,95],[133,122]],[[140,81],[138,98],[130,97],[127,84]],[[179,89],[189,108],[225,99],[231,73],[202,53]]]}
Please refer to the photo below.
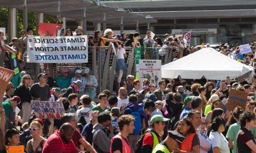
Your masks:
{"label": "white t-shirt on dark-haired person at lower right foreground", "polygon": [[218,132],[210,132],[209,135],[212,148],[219,147],[221,153],[229,153],[229,147],[227,139],[223,136],[223,134],[220,134]]}

